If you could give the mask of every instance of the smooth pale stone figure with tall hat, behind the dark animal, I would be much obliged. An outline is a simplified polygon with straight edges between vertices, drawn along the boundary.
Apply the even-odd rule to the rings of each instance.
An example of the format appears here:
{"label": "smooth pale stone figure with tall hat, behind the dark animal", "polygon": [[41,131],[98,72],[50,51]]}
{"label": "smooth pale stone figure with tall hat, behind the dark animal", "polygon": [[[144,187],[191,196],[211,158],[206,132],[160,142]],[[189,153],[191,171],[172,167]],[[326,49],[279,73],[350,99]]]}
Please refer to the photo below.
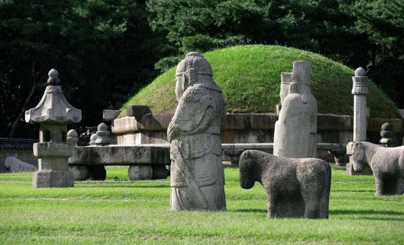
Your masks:
{"label": "smooth pale stone figure with tall hat, behind the dark animal", "polygon": [[[317,156],[317,101],[310,88],[310,62],[293,62],[289,94],[284,97],[275,123],[274,155],[289,158]],[[283,83],[285,86],[286,83]],[[281,98],[285,95],[281,91]]]}

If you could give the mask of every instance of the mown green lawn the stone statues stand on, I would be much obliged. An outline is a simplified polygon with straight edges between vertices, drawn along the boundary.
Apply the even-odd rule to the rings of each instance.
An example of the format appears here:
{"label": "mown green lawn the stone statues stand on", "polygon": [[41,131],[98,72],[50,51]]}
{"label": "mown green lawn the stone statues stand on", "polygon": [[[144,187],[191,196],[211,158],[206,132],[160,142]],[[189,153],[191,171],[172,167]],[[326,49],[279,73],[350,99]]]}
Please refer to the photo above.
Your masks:
{"label": "mown green lawn the stone statues stand on", "polygon": [[170,180],[31,186],[32,173],[0,174],[0,244],[61,243],[403,243],[404,197],[375,197],[373,176],[332,169],[328,220],[268,219],[260,184],[238,184],[225,169],[226,212],[170,212]]}

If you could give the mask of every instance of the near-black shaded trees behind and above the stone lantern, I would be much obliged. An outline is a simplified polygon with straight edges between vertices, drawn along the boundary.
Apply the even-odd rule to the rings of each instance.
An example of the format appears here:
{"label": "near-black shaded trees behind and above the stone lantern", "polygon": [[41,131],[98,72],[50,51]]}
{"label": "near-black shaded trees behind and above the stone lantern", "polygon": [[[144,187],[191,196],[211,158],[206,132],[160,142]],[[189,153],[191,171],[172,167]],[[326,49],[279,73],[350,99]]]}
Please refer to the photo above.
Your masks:
{"label": "near-black shaded trees behind and above the stone lantern", "polygon": [[39,102],[52,68],[82,126],[102,122],[104,109],[119,108],[157,74],[161,37],[150,32],[144,3],[2,1],[0,21],[0,137],[38,137],[21,112]]}

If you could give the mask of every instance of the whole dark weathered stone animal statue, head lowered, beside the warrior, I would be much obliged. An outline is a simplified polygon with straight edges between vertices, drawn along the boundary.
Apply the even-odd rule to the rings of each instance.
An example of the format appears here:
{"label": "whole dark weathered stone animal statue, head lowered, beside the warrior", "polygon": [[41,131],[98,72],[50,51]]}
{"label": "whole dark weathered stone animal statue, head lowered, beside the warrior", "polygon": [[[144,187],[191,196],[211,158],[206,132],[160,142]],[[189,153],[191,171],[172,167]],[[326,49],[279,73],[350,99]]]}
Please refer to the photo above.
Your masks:
{"label": "whole dark weathered stone animal statue, head lowered, beside the warrior", "polygon": [[260,182],[267,191],[269,218],[328,219],[330,165],[316,158],[283,158],[248,150],[241,154],[240,186]]}

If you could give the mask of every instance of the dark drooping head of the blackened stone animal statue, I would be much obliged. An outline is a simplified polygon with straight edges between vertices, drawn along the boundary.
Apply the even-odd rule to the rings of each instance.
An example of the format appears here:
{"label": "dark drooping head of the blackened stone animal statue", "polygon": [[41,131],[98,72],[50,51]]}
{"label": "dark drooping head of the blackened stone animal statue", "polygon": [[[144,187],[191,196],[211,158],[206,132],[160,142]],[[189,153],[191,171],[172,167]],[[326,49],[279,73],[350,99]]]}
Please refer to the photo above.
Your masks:
{"label": "dark drooping head of the blackened stone animal statue", "polygon": [[240,186],[244,189],[250,189],[255,184],[255,179],[253,178],[255,170],[255,157],[251,154],[251,151],[245,151],[240,156],[239,170],[240,170]]}

